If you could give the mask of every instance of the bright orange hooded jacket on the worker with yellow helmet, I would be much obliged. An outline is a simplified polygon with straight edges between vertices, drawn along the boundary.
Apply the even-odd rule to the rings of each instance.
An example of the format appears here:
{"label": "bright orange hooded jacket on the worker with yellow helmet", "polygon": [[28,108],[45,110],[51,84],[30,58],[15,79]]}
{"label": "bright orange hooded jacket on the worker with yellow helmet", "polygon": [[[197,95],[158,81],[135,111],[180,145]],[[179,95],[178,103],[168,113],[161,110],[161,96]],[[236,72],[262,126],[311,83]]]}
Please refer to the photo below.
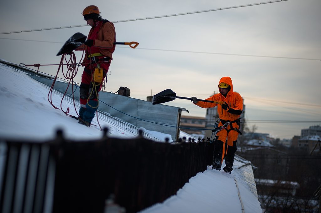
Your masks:
{"label": "bright orange hooded jacket on the worker with yellow helmet", "polygon": [[224,97],[221,93],[218,93],[214,94],[212,97],[206,100],[212,100],[214,102],[225,101],[229,105],[227,110],[223,109],[220,104],[215,103],[198,101],[195,105],[200,106],[202,108],[211,108],[217,106],[217,112],[222,120],[234,121],[240,117],[240,114],[243,111],[243,99],[239,93],[233,92],[233,84],[232,79],[230,77],[222,77],[219,84],[222,82],[227,83],[231,86],[231,89],[227,93],[226,97]]}

